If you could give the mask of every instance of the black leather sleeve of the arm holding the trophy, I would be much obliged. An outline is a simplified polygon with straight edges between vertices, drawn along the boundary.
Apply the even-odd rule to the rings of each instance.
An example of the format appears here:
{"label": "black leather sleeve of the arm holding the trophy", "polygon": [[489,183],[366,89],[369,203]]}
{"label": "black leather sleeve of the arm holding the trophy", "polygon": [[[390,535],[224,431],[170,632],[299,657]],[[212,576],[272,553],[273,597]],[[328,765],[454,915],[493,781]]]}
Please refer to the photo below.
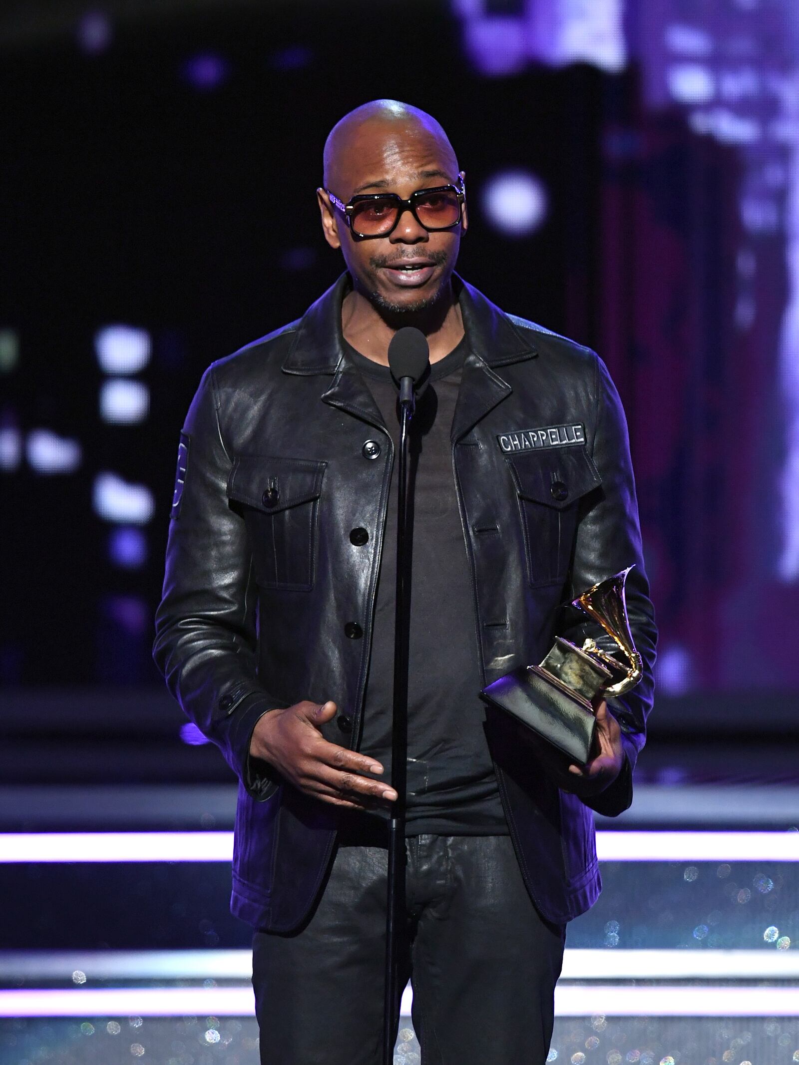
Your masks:
{"label": "black leather sleeve of the arm holding the trophy", "polygon": [[[647,717],[652,708],[657,630],[643,567],[624,411],[607,367],[598,356],[594,358],[597,414],[591,455],[602,485],[582,505],[571,567],[571,597],[634,564],[627,576],[625,596],[633,642],[643,662],[643,676],[636,687],[622,697],[607,700],[607,708],[621,728],[622,770],[604,791],[584,800],[597,813],[615,817],[633,801],[633,770],[646,741]],[[559,635],[577,645],[592,636],[604,650],[616,650],[610,637],[596,622],[572,608],[567,611]]]}

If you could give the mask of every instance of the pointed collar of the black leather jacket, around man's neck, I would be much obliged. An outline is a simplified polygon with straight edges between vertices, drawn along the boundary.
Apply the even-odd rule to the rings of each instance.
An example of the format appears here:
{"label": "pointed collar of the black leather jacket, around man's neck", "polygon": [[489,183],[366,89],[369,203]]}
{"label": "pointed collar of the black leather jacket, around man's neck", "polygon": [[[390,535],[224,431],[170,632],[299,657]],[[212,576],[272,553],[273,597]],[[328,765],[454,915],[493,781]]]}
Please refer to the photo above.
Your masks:
{"label": "pointed collar of the black leather jacket, around man's neck", "polygon": [[[482,292],[457,274],[453,282],[463,316],[463,328],[471,350],[489,366],[504,366],[538,353],[511,321]],[[283,362],[287,374],[335,374],[344,357],[341,331],[341,304],[349,291],[349,275],[344,273],[327,292],[311,304],[299,321],[294,342]]]}

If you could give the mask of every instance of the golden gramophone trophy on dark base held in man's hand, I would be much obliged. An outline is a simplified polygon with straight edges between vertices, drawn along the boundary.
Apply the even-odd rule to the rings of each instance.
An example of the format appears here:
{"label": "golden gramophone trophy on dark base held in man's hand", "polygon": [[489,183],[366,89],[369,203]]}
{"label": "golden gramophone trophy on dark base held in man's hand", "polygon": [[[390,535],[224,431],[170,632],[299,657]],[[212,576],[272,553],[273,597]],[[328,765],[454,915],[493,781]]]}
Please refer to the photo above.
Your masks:
{"label": "golden gramophone trophy on dark base held in man's hand", "polygon": [[641,678],[641,656],[633,643],[624,602],[624,581],[632,569],[601,580],[572,601],[613,639],[613,654],[590,638],[578,648],[556,636],[540,666],[522,666],[480,692],[486,702],[517,718],[580,766],[591,758],[593,700],[621,695]]}

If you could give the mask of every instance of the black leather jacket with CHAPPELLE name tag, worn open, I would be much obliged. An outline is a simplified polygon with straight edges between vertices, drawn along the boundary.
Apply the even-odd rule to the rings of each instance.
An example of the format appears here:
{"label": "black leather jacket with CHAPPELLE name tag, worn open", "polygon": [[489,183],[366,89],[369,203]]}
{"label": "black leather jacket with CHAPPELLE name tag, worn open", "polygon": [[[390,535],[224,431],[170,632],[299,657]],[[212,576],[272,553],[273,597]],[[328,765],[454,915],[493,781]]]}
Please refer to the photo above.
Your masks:
{"label": "black leather jacket with CHAPPELLE name tag, worn open", "polygon": [[[270,708],[332,699],[339,712],[322,732],[355,746],[393,462],[369,389],[344,357],[348,283],[345,274],[299,321],[206,371],[181,435],[156,619],[153,655],[169,690],[240,780],[231,908],[275,931],[298,925],[312,905],[338,813],[254,766],[250,735]],[[560,605],[635,563],[627,609],[645,677],[610,703],[626,756],[619,779],[586,802],[561,791],[504,715],[488,714],[525,883],[559,923],[599,895],[588,807],[615,815],[630,805],[652,703],[655,626],[626,427],[593,351],[456,284],[470,353],[453,471],[486,683],[540,661],[556,632],[575,642],[598,636]],[[528,435],[550,427],[559,435]],[[368,530],[365,544],[350,542],[356,527]]]}

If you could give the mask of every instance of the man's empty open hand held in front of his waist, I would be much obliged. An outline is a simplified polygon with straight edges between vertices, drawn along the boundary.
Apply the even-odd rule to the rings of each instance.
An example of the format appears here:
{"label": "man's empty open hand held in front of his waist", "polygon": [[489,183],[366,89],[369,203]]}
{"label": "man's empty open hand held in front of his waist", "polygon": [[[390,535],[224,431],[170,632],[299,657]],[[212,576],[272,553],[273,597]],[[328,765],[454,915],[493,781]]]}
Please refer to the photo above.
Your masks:
{"label": "man's empty open hand held in front of his waist", "polygon": [[336,703],[305,700],[259,718],[249,743],[251,758],[262,758],[306,794],[352,809],[386,808],[396,791],[361,773],[381,773],[374,758],[330,743],[320,725],[336,715]]}

